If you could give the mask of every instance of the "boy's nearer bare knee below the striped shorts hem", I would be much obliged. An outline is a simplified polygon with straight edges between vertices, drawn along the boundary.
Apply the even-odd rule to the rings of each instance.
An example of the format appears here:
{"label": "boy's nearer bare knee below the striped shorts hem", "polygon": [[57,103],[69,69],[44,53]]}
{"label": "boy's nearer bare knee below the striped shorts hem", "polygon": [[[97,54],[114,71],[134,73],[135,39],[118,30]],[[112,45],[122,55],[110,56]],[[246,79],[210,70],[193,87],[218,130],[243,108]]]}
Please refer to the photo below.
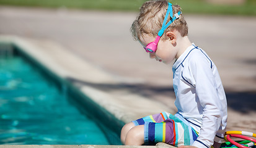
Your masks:
{"label": "boy's nearer bare knee below the striped shorts hem", "polygon": [[144,125],[131,128],[126,134],[125,145],[141,146],[144,144]]}

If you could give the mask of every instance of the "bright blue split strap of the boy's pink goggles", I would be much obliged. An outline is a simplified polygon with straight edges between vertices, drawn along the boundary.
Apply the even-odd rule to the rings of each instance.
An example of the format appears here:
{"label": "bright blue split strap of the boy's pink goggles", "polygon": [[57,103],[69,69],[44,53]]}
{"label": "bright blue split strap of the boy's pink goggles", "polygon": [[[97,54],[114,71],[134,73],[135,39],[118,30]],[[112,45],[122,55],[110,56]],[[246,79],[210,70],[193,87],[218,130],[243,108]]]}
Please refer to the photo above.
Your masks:
{"label": "bright blue split strap of the boy's pink goggles", "polygon": [[[167,18],[169,17],[169,14],[170,14],[170,17],[172,19],[168,23],[166,23]],[[180,17],[180,14],[182,14],[182,12],[179,10],[179,12],[174,14],[174,16],[173,16],[173,14],[172,14],[172,4],[170,2],[168,2],[168,9],[167,9],[167,12],[166,12],[166,16],[164,17],[164,22],[162,23],[161,30],[158,32],[158,36],[162,36],[162,34],[164,34],[164,30],[166,30],[166,28],[169,27],[169,25],[172,22],[174,22],[174,20],[178,19]]]}

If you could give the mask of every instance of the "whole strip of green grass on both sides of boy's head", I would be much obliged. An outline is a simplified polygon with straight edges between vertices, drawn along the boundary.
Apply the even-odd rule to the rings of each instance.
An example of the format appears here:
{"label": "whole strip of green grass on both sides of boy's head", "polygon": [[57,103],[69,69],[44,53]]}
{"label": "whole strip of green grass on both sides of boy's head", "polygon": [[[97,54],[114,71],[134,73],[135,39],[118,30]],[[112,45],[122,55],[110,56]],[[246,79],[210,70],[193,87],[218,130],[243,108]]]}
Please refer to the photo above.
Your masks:
{"label": "whole strip of green grass on both sides of boy's head", "polygon": [[[86,10],[138,11],[146,0],[0,0],[0,5],[29,7],[66,7]],[[246,0],[242,5],[210,4],[205,0],[170,0],[190,14],[256,15],[256,0]]]}

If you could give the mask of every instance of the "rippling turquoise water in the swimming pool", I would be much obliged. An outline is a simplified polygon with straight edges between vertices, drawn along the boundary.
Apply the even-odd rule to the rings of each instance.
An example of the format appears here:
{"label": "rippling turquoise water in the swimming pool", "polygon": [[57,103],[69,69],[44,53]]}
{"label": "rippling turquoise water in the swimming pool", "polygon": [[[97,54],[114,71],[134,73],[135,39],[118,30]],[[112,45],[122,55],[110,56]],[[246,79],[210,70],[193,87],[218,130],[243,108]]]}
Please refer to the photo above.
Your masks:
{"label": "rippling turquoise water in the swimming pool", "polygon": [[0,57],[0,144],[109,144],[71,99],[21,57]]}

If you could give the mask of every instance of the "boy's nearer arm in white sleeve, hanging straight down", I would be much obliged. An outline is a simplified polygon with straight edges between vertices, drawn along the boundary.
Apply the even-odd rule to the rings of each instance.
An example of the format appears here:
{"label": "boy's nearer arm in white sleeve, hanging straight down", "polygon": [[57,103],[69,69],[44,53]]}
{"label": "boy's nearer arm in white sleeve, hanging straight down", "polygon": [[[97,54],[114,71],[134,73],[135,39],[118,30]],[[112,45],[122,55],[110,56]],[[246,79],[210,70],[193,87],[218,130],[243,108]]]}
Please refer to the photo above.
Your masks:
{"label": "boy's nearer arm in white sleeve, hanging straight down", "polygon": [[196,147],[211,147],[216,132],[221,125],[221,103],[218,96],[216,81],[212,72],[212,63],[205,57],[198,57],[190,62],[196,82],[196,95],[203,107],[203,118],[198,138],[193,143]]}

